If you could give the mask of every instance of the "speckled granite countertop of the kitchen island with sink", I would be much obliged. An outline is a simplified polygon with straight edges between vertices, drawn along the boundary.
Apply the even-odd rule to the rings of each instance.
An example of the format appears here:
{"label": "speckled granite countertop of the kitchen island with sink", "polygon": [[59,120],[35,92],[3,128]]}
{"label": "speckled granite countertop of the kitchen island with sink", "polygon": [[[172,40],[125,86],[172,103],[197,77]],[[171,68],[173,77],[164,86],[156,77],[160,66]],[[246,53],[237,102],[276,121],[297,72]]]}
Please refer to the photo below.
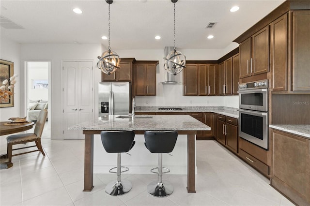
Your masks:
{"label": "speckled granite countertop of the kitchen island with sink", "polygon": [[117,118],[109,115],[69,127],[69,130],[135,130],[135,131],[210,131],[211,128],[189,115],[136,115]]}

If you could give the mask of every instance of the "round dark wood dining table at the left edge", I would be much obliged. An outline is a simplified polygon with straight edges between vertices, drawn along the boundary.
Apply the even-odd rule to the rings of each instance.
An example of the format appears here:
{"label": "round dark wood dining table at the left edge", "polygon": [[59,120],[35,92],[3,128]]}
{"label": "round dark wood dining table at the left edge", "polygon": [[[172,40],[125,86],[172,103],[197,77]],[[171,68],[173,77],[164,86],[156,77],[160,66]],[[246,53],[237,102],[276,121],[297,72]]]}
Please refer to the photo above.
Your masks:
{"label": "round dark wood dining table at the left edge", "polygon": [[[27,121],[27,122],[19,122],[19,123],[12,123],[11,121],[0,121],[0,136],[13,134],[17,132],[24,132],[30,130],[34,125],[34,122]],[[12,162],[2,162],[3,159],[7,159],[7,154],[1,154],[0,159],[0,168],[1,169],[8,169],[13,166]]]}

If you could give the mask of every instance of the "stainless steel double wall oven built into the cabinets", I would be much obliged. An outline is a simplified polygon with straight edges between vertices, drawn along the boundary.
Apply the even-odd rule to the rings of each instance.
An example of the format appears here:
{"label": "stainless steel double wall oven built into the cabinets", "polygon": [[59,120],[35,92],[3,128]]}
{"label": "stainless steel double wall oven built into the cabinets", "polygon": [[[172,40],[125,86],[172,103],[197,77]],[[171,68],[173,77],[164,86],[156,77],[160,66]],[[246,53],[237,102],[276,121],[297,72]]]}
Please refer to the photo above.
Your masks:
{"label": "stainless steel double wall oven built into the cabinets", "polygon": [[268,80],[239,84],[239,136],[268,150]]}

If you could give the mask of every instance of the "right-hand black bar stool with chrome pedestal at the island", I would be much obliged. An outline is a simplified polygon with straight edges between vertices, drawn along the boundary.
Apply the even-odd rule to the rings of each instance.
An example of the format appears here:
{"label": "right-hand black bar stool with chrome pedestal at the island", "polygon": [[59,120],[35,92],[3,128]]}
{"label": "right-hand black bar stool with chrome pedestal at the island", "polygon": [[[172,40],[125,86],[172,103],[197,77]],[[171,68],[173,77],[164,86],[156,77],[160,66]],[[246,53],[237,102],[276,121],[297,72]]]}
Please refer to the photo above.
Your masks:
{"label": "right-hand black bar stool with chrome pedestal at the island", "polygon": [[[176,139],[178,137],[178,132],[176,131],[164,131],[164,132],[144,132],[145,147],[151,153],[158,153],[158,167],[151,169],[152,173],[158,174],[158,181],[153,181],[147,186],[147,191],[155,197],[167,197],[172,194],[173,186],[170,182],[162,182],[162,175],[169,173],[168,168],[163,167],[163,154],[172,152]],[[153,170],[158,168],[158,172]],[[163,169],[167,170],[163,172]]]}

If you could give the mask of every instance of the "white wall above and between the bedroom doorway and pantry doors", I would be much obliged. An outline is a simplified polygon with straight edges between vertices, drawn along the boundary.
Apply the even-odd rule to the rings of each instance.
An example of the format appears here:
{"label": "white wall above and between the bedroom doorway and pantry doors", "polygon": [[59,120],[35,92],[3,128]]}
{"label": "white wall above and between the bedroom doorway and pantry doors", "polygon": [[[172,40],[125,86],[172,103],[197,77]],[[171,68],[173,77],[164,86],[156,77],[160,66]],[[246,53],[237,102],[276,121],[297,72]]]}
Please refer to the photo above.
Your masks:
{"label": "white wall above and between the bedroom doorway and pantry doors", "polygon": [[[1,45],[2,47],[2,45]],[[22,44],[21,60],[51,61],[51,138],[62,139],[62,60],[93,60],[94,84],[101,81],[101,73],[96,69],[97,56],[101,54],[101,44]],[[24,74],[22,74],[24,75]],[[97,87],[94,87],[96,89]],[[96,92],[96,90],[95,90]],[[94,106],[96,108],[96,106]],[[24,109],[24,114],[26,111]]]}

